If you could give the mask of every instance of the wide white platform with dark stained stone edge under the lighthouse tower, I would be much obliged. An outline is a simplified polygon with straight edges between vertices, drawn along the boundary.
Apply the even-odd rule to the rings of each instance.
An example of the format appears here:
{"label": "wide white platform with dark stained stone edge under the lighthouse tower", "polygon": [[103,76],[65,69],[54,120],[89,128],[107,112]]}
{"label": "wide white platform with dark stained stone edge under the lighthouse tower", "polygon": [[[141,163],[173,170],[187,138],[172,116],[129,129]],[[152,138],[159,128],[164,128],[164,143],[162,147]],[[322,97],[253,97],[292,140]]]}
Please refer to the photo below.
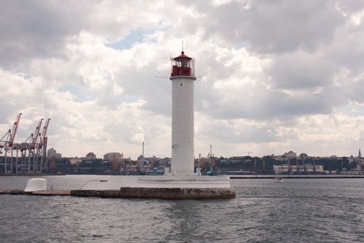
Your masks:
{"label": "wide white platform with dark stained stone edge under the lighthouse tower", "polygon": [[231,199],[229,176],[111,176],[92,180],[72,196],[146,199]]}

